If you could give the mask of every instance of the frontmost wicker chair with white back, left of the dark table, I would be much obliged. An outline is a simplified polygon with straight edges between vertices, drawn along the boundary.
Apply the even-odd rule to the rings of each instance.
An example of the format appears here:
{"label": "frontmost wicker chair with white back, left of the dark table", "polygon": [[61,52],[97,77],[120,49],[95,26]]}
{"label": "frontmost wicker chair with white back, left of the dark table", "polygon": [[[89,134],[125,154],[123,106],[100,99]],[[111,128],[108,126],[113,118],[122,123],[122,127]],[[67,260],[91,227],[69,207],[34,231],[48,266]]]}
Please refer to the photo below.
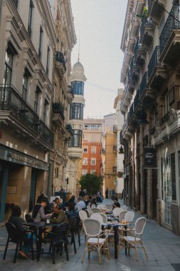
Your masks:
{"label": "frontmost wicker chair with white back, left of the dark table", "polygon": [[102,237],[101,224],[98,220],[93,218],[88,218],[83,221],[83,227],[85,229],[86,242],[85,250],[83,252],[83,262],[85,258],[85,252],[88,251],[88,258],[90,259],[90,252],[97,251],[99,255],[99,262],[101,262],[101,250],[107,252],[108,260],[110,260],[110,252],[108,245],[108,234]]}

